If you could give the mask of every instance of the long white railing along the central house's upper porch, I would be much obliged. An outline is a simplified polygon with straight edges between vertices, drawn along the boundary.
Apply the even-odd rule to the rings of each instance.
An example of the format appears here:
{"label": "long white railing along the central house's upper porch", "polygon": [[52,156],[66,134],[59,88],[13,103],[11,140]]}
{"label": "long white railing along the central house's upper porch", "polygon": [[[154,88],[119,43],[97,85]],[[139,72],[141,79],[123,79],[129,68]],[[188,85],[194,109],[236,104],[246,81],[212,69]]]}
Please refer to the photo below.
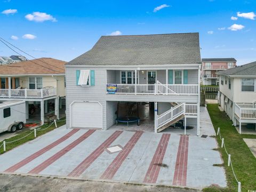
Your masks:
{"label": "long white railing along the central house's upper porch", "polygon": [[[193,95],[198,94],[196,84],[113,84],[115,94]],[[111,92],[113,93],[113,92]]]}

